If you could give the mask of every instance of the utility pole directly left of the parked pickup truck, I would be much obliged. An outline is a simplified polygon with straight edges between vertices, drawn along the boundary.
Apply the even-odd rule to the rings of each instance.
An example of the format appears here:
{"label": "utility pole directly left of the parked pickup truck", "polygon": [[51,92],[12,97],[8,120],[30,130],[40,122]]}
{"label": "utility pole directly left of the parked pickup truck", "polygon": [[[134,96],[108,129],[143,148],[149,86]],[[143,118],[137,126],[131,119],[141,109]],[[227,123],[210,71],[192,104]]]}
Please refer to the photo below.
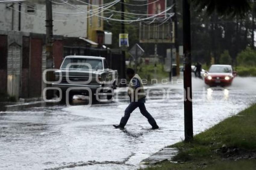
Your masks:
{"label": "utility pole directly left of the parked pickup truck", "polygon": [[[52,25],[52,1],[45,0],[46,10],[46,69],[52,69],[54,66],[53,60],[53,25]],[[54,81],[54,74],[52,71],[46,73],[47,81]],[[46,87],[51,87],[51,84],[46,84]],[[46,98],[53,98],[53,92],[51,90],[46,91]]]}

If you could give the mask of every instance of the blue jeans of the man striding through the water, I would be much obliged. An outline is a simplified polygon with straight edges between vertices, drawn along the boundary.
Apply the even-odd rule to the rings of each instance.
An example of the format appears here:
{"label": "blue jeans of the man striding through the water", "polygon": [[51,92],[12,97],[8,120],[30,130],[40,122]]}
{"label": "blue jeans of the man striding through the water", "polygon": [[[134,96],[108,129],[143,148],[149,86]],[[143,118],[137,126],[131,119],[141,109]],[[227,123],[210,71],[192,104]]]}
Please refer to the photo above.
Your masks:
{"label": "blue jeans of the man striding through the water", "polygon": [[131,113],[139,107],[140,113],[148,119],[149,124],[154,127],[156,126],[155,119],[146,110],[144,102],[131,102],[130,105],[125,109],[124,116],[121,118],[120,126],[124,127],[129,120]]}

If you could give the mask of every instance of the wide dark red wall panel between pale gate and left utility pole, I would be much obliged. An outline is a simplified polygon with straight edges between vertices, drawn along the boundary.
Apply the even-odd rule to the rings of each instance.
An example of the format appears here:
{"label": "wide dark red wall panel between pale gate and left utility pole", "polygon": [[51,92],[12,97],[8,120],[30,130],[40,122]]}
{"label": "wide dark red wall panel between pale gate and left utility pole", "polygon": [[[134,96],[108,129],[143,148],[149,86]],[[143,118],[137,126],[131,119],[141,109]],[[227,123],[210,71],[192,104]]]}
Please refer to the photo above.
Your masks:
{"label": "wide dark red wall panel between pale gate and left utility pole", "polygon": [[42,39],[31,38],[29,97],[41,96],[42,86]]}

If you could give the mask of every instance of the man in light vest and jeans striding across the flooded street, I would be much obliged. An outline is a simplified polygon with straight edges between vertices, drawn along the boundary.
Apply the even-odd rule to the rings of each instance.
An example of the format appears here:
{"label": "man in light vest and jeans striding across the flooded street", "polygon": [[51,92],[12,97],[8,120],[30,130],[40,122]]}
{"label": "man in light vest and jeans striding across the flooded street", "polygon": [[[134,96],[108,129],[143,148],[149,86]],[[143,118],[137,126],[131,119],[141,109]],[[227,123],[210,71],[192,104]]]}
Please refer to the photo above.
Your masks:
{"label": "man in light vest and jeans striding across the flooded street", "polygon": [[141,114],[148,119],[148,122],[152,126],[152,129],[158,129],[159,127],[155,119],[146,110],[146,107],[145,107],[146,93],[145,93],[141,78],[139,77],[138,74],[135,74],[132,68],[127,68],[126,74],[130,79],[130,84],[128,89],[128,95],[130,96],[130,104],[125,109],[124,116],[121,118],[120,124],[113,125],[113,126],[115,128],[123,129],[130,117],[130,114],[136,108],[139,108]]}

